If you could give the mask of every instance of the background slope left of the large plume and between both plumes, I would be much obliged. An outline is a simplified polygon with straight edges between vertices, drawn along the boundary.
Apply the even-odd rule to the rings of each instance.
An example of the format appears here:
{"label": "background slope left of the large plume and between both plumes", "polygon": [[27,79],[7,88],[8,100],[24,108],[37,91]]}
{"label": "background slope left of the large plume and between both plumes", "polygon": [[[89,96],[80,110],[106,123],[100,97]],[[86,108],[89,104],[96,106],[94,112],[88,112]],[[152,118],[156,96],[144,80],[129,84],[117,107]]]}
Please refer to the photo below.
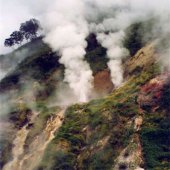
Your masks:
{"label": "background slope left of the large plume and between both plumes", "polygon": [[[106,65],[106,50],[97,43],[94,35],[89,36],[87,41],[86,59],[91,63],[96,77],[94,82],[96,92],[94,93],[97,93],[96,97],[99,97],[109,93],[113,88]],[[6,131],[7,128],[4,130],[3,127],[3,137],[0,140],[1,167],[12,159],[12,141],[15,139],[17,131],[24,126],[28,126],[28,128],[34,126],[24,141],[26,147],[34,140],[34,137],[43,131],[47,120],[53,114],[55,107],[49,107],[49,101],[56,100],[55,93],[58,93],[60,88],[64,90],[68,88],[68,85],[63,82],[64,67],[59,64],[58,59],[59,56],[53,53],[41,38],[10,54],[1,56],[0,63],[3,66],[14,64],[10,69],[12,71],[6,70],[8,74],[0,81],[1,122],[5,126],[9,124],[10,131]],[[101,86],[101,84],[103,85]],[[6,102],[5,105],[4,102]],[[30,122],[30,117],[34,112],[40,112],[40,115],[33,124]]]}

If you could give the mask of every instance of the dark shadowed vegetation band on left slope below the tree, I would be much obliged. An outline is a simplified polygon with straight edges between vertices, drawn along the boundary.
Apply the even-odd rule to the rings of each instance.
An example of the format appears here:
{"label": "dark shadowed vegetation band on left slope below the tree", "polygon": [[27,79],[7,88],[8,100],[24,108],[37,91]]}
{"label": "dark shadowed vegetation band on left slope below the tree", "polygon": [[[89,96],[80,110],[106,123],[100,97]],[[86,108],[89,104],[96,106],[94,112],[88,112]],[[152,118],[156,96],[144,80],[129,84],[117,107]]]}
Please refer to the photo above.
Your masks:
{"label": "dark shadowed vegetation band on left slope below the tree", "polygon": [[[47,80],[56,70],[61,69],[62,74],[63,66],[58,62],[59,57],[56,53],[51,52],[51,49],[48,46],[42,46],[44,46],[43,49],[39,49],[33,55],[28,56],[18,64],[13,72],[1,80],[0,91],[9,90],[10,88],[15,87],[19,88],[20,79],[25,76],[44,83],[44,80]],[[53,87],[50,85],[48,85],[48,87],[51,87],[51,91],[46,91],[50,94]]]}

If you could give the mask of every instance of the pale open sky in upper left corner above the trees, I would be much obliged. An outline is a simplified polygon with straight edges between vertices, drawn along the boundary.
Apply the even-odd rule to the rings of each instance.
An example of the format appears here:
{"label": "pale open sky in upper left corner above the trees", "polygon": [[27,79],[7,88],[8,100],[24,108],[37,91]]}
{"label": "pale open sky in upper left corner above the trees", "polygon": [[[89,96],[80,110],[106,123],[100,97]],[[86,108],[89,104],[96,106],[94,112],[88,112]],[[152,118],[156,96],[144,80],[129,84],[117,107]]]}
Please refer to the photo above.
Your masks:
{"label": "pale open sky in upper left corner above the trees", "polygon": [[[20,23],[33,17],[32,10],[30,11],[33,0],[28,1],[0,0],[0,54],[11,50],[11,48],[4,47],[4,39],[8,38],[14,30],[18,30]],[[33,7],[34,5],[32,5]]]}

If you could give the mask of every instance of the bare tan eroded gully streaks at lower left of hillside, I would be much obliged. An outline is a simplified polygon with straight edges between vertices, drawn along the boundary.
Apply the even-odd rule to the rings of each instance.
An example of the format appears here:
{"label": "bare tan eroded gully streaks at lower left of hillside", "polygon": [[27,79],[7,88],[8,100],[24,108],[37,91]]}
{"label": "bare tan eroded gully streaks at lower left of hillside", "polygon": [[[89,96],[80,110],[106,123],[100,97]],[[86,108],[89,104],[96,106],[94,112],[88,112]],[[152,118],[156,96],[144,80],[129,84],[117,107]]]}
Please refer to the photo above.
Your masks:
{"label": "bare tan eroded gully streaks at lower left of hillside", "polygon": [[29,129],[24,126],[18,130],[13,142],[13,159],[4,166],[3,170],[33,170],[41,161],[47,145],[55,137],[54,132],[62,125],[64,111],[65,110],[61,110],[60,112],[55,113],[53,117],[50,117],[44,131],[36,136],[33,142],[29,144],[27,152],[25,152],[24,145]]}

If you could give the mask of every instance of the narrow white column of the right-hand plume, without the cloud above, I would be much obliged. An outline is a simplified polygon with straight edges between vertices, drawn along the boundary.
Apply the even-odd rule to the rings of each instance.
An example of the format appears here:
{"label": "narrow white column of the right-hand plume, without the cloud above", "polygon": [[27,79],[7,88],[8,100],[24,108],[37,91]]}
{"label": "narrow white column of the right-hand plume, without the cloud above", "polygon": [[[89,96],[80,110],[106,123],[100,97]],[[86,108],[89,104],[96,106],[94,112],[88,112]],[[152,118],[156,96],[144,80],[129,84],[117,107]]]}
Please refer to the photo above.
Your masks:
{"label": "narrow white column of the right-hand plume, without the cloud above", "polygon": [[128,50],[122,45],[123,38],[123,31],[109,34],[100,33],[97,35],[98,41],[103,47],[107,48],[108,67],[111,71],[111,79],[115,87],[118,87],[123,81],[121,59],[128,55]]}

